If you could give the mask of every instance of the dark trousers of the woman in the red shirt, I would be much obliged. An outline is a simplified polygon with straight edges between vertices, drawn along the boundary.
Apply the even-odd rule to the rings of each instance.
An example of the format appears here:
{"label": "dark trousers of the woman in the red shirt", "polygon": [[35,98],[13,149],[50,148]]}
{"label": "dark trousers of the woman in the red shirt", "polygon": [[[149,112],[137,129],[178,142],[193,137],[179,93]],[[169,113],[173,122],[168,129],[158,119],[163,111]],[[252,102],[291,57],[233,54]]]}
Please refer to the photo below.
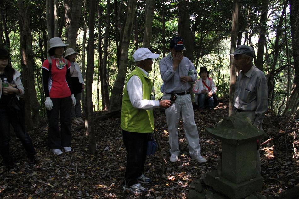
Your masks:
{"label": "dark trousers of the woman in the red shirt", "polygon": [[[60,149],[64,146],[71,146],[71,105],[70,97],[51,98],[53,109],[47,110],[49,122],[48,145],[50,149]],[[58,126],[58,117],[60,113],[60,128]]]}

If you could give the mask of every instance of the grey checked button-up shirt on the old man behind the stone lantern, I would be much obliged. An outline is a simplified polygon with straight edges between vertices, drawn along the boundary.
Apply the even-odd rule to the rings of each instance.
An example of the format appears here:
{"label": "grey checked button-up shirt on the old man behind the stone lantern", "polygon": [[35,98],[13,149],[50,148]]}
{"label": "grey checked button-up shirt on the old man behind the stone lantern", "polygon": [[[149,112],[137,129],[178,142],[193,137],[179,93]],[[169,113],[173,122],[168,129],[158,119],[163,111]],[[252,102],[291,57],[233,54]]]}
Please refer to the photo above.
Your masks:
{"label": "grey checked button-up shirt on the old man behind the stone lantern", "polygon": [[259,127],[268,109],[268,87],[265,74],[256,66],[243,74],[239,72],[234,94],[233,109],[254,111],[253,126]]}

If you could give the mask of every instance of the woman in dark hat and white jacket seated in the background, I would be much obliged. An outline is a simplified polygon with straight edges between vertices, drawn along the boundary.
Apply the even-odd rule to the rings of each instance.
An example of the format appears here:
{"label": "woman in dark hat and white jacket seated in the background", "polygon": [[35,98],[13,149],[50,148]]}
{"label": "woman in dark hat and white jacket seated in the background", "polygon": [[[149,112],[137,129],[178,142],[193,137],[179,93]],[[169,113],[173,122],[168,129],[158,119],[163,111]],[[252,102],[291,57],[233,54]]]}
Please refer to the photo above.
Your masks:
{"label": "woman in dark hat and white jacket seated in the background", "polygon": [[199,75],[200,79],[196,80],[193,93],[195,93],[195,104],[199,106],[198,111],[200,113],[204,113],[205,104],[208,104],[209,110],[214,109],[214,99],[212,97],[213,94],[216,93],[216,86],[211,77],[209,77],[208,69],[203,66],[200,67]]}

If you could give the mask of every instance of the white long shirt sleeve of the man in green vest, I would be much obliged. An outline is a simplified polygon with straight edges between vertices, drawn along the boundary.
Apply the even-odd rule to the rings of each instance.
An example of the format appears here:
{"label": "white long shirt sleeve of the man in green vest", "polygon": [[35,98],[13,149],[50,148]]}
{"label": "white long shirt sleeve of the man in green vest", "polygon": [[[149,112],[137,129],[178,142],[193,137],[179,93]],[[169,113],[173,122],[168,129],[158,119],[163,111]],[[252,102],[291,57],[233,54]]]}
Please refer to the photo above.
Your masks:
{"label": "white long shirt sleeve of the man in green vest", "polygon": [[144,100],[142,97],[142,83],[137,75],[133,75],[127,83],[127,91],[132,105],[138,109],[154,109],[159,107],[158,100]]}

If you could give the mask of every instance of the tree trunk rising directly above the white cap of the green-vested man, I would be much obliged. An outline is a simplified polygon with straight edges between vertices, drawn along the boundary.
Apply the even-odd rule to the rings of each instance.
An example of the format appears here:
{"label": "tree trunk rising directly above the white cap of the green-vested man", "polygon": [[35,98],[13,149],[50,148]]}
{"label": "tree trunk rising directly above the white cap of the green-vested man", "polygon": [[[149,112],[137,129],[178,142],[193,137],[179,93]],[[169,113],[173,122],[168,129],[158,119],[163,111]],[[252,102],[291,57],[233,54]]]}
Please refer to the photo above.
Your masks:
{"label": "tree trunk rising directly above the white cap of the green-vested man", "polygon": [[142,47],[150,47],[150,39],[152,37],[153,14],[155,8],[155,0],[145,1],[145,16],[144,16],[144,36]]}

